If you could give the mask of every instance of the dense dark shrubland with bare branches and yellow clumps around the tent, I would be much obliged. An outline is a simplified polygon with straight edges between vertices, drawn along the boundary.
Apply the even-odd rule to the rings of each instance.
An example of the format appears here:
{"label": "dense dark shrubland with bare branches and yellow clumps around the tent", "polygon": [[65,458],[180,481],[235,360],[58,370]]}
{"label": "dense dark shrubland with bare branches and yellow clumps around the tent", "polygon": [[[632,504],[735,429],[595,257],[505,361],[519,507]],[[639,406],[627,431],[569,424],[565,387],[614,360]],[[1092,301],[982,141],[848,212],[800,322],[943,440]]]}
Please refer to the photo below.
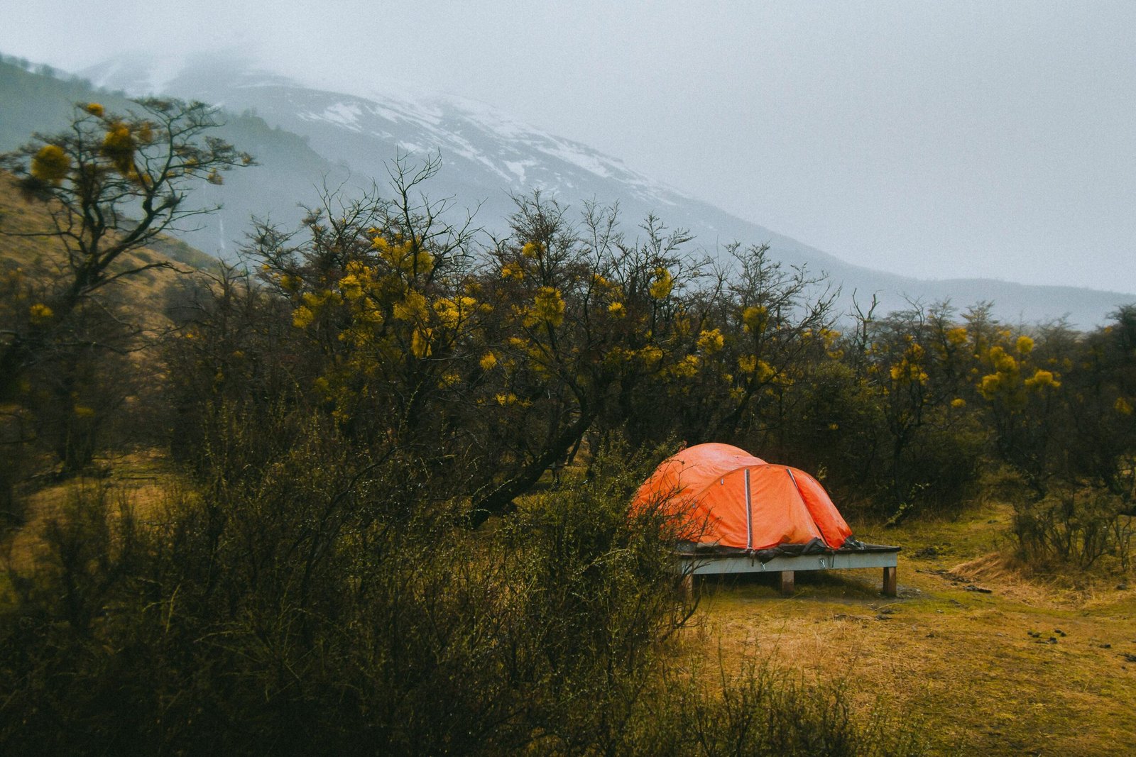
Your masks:
{"label": "dense dark shrubland with bare branches and yellow clumps around the tent", "polygon": [[1091,333],[984,304],[842,312],[763,246],[708,260],[615,208],[533,193],[486,238],[425,199],[435,163],[403,162],[393,199],[259,225],[245,266],[168,288],[158,327],[119,285],[160,263],[123,261],[190,212],[185,179],[248,162],[194,108],[87,106],[82,138],[7,158],[55,226],[3,238],[66,243],[57,275],[0,281],[7,524],[34,477],[109,447],[167,448],[186,485],[147,513],[76,485],[40,560],[9,561],[0,743],[907,748],[799,682],[708,693],[668,663],[691,612],[673,524],[627,502],[683,443],[815,471],[852,518],[996,488],[1027,562],[1129,569],[1136,306]]}

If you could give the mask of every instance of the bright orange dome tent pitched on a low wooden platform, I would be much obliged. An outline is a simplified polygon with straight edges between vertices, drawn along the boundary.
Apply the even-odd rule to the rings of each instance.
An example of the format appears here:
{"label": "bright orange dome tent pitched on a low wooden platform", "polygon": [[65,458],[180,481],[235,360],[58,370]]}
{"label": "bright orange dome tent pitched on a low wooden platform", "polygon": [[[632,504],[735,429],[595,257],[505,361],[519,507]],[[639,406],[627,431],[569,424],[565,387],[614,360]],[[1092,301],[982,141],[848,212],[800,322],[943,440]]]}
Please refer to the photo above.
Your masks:
{"label": "bright orange dome tent pitched on a low wooden platform", "polygon": [[728,444],[700,444],[663,461],[635,495],[635,506],[688,513],[700,547],[769,549],[813,545],[840,549],[852,530],[820,483]]}

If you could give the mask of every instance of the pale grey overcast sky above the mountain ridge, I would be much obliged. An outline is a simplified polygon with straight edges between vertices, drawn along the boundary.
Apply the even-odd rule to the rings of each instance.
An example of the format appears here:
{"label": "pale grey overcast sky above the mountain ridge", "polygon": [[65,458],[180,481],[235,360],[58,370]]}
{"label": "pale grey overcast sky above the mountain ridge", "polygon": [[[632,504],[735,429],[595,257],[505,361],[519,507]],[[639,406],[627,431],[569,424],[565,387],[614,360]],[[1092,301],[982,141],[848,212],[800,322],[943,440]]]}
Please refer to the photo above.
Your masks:
{"label": "pale grey overcast sky above the mountain ridge", "polygon": [[68,70],[210,47],[483,100],[864,266],[1136,293],[1130,0],[0,5]]}

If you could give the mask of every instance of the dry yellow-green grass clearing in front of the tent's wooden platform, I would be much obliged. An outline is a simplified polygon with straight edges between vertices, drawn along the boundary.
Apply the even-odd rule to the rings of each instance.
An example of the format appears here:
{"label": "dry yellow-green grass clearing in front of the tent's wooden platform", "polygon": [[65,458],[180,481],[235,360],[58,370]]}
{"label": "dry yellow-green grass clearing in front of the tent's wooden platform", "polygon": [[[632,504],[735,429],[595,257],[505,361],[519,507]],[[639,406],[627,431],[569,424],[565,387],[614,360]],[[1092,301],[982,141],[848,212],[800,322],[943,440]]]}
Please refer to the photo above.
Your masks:
{"label": "dry yellow-green grass clearing in front of the tent's wooden platform", "polygon": [[772,581],[704,582],[684,651],[843,683],[860,708],[922,722],[933,754],[1136,754],[1136,591],[1025,578],[1000,554],[1008,516],[859,529],[904,547],[894,599],[878,570],[799,573],[791,598]]}

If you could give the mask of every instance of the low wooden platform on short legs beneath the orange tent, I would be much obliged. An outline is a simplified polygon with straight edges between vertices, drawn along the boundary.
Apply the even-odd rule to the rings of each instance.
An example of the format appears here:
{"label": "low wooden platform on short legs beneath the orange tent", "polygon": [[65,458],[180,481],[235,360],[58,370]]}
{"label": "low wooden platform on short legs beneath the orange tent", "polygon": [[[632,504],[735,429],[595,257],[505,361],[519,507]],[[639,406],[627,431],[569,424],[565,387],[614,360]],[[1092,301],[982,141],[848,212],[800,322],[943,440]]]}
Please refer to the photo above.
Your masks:
{"label": "low wooden platform on short legs beneath the orange tent", "polygon": [[834,571],[853,567],[883,567],[883,592],[894,597],[899,548],[869,552],[841,550],[815,555],[778,555],[761,562],[754,555],[680,554],[679,566],[690,588],[693,577],[722,573],[780,573],[782,594],[793,594],[793,577],[797,571]]}

